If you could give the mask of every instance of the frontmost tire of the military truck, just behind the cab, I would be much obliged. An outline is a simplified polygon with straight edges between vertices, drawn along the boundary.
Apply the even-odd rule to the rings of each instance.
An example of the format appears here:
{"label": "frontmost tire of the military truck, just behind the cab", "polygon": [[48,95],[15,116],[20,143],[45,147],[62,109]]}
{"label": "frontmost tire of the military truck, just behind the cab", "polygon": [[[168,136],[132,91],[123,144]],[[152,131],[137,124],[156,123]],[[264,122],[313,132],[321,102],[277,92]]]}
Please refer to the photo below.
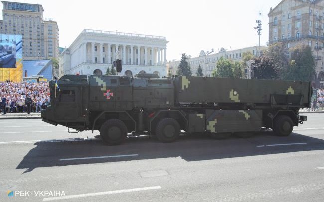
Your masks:
{"label": "frontmost tire of the military truck, just behind the cab", "polygon": [[109,145],[119,145],[126,140],[127,127],[121,120],[109,119],[100,128],[101,140]]}

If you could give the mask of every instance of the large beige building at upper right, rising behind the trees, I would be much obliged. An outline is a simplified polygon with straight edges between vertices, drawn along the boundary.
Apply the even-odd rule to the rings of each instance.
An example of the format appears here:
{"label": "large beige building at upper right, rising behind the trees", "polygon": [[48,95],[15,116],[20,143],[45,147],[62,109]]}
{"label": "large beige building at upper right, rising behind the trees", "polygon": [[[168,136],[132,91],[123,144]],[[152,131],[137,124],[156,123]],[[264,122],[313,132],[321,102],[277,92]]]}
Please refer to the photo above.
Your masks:
{"label": "large beige building at upper right, rising behind the trees", "polygon": [[313,84],[324,83],[324,1],[282,0],[270,8],[269,44],[284,42],[287,49],[297,44],[309,45],[315,57]]}

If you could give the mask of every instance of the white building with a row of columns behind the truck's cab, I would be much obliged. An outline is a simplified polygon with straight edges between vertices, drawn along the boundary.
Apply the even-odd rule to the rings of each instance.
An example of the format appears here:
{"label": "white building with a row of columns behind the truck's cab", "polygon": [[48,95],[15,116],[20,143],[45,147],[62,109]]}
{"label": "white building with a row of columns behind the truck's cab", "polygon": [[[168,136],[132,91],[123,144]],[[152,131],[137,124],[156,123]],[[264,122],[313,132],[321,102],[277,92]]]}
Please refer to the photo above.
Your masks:
{"label": "white building with a row of columns behind the truck's cab", "polygon": [[105,74],[119,51],[123,75],[166,76],[167,43],[162,36],[84,29],[63,51],[63,71],[64,74]]}

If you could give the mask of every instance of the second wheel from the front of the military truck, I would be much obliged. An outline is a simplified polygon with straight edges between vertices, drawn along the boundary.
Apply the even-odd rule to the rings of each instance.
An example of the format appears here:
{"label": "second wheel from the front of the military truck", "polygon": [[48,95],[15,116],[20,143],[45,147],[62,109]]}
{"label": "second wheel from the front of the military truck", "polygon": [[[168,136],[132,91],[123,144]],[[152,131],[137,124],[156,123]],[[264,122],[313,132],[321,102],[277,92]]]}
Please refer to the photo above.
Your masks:
{"label": "second wheel from the front of the military truck", "polygon": [[164,118],[157,124],[155,134],[161,142],[173,142],[180,136],[180,125],[172,118]]}

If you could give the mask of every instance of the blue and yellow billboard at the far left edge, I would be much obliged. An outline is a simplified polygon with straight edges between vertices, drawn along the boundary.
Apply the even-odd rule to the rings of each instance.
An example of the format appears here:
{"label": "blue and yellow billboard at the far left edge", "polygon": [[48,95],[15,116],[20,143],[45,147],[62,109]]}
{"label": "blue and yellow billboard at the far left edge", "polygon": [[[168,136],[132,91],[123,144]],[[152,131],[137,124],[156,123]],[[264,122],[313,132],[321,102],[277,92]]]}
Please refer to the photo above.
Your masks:
{"label": "blue and yellow billboard at the far left edge", "polygon": [[22,81],[22,36],[0,34],[0,81]]}

